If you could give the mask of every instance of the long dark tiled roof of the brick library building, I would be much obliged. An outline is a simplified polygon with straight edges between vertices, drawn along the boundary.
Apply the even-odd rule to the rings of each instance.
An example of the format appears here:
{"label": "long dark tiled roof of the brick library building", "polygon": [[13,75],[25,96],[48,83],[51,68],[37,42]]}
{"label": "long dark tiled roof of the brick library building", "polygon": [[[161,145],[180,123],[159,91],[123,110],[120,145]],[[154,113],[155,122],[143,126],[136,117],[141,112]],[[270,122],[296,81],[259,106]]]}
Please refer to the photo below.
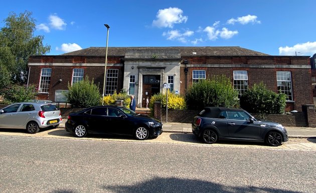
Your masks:
{"label": "long dark tiled roof of the brick library building", "polygon": [[[239,46],[222,47],[108,47],[108,56],[124,56],[126,51],[152,52],[175,49],[181,56],[269,56],[268,54],[241,48]],[[64,53],[66,56],[104,56],[106,47],[89,47],[82,50]]]}

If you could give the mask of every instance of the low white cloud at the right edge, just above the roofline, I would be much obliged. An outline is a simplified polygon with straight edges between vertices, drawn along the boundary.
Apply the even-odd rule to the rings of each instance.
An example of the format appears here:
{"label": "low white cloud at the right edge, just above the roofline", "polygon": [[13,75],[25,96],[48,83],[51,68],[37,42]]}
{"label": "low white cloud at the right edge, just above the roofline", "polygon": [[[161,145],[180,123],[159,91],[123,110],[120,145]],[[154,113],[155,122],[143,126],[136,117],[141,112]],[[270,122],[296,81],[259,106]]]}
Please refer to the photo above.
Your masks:
{"label": "low white cloud at the right edge, just above the roofline", "polygon": [[313,55],[316,53],[316,42],[296,44],[292,47],[279,47],[279,55],[295,56],[295,52],[297,55]]}

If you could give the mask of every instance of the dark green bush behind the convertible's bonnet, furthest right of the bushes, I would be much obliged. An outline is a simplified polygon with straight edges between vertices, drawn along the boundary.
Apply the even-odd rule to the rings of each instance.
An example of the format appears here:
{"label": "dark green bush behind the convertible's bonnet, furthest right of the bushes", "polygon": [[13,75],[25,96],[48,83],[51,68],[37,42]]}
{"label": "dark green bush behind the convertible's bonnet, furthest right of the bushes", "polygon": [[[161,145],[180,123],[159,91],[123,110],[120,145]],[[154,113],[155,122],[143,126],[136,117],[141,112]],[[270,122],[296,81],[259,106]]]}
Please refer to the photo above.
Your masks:
{"label": "dark green bush behind the convertible's bonnet, furthest right of the bushes", "polygon": [[285,113],[286,95],[275,93],[262,82],[254,84],[240,96],[240,107],[249,113],[283,114]]}

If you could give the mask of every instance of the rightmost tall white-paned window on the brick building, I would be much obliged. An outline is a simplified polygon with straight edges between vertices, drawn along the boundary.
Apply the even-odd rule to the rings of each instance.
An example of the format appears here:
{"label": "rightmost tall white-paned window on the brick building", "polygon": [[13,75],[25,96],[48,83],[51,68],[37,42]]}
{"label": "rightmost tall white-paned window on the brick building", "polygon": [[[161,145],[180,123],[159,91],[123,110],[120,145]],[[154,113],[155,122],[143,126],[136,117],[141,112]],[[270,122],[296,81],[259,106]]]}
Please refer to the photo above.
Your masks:
{"label": "rightmost tall white-paned window on the brick building", "polygon": [[277,90],[286,95],[287,101],[292,101],[292,80],[290,71],[276,71]]}

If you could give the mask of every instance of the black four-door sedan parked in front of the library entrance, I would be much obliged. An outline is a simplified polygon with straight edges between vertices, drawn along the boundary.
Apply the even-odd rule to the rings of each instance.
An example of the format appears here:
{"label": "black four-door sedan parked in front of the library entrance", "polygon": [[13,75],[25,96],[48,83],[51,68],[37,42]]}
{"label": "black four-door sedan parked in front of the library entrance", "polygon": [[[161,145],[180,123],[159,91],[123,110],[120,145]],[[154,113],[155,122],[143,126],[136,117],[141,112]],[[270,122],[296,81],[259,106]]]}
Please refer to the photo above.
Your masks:
{"label": "black four-door sedan parked in front of the library entrance", "polygon": [[88,133],[130,135],[138,140],[156,138],[163,133],[163,124],[154,118],[136,114],[121,106],[96,106],[71,113],[66,131],[76,137]]}

